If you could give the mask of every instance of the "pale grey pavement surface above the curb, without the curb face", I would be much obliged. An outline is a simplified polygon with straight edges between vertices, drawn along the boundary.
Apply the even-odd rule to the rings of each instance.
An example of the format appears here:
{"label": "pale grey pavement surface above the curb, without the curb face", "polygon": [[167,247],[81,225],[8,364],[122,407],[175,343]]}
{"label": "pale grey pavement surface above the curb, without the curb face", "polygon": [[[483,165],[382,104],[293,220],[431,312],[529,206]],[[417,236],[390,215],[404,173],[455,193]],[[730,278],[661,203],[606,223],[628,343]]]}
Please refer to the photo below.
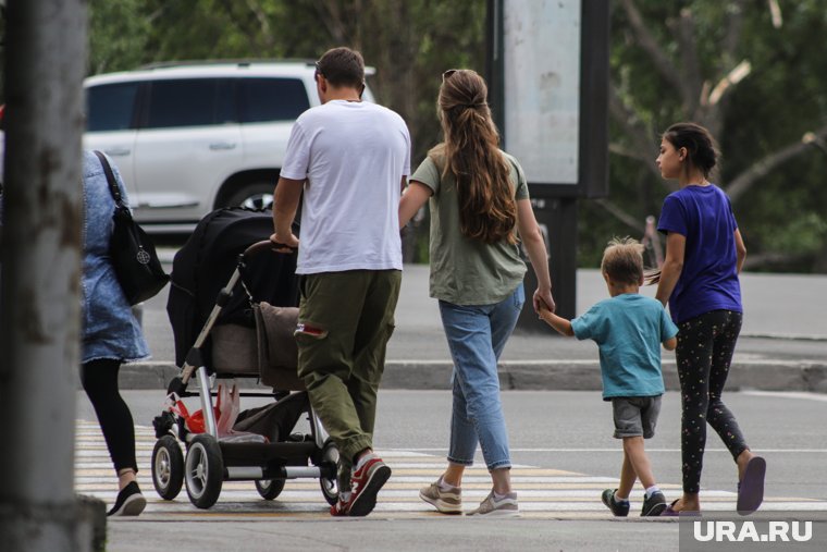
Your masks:
{"label": "pale grey pavement surface above the curb, without the curb face", "polygon": [[[171,259],[173,253],[173,249],[166,249],[162,256]],[[450,358],[436,300],[428,296],[428,271],[425,265],[405,267],[396,308],[396,330],[387,344],[388,360]],[[584,312],[592,304],[606,298],[605,283],[598,271],[581,269],[577,278],[578,312]],[[827,322],[822,300],[827,297],[827,277],[743,274],[742,289],[745,315],[737,357],[827,361]],[[650,296],[654,296],[654,292],[652,286],[641,290]],[[143,305],[143,323],[152,360],[171,364],[175,351],[165,308],[166,291],[163,290]],[[506,345],[502,360],[596,360],[593,343],[560,338],[542,326],[540,329],[538,333],[518,328]]]}

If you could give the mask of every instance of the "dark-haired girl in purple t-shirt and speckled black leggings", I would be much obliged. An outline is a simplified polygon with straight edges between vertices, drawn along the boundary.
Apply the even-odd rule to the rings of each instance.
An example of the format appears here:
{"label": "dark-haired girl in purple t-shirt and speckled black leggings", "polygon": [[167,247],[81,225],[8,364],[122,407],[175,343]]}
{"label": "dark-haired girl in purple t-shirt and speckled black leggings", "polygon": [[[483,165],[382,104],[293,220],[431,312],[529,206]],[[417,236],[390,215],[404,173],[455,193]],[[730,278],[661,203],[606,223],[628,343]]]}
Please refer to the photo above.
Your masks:
{"label": "dark-haired girl in purple t-shirt and speckled black leggings", "polygon": [[757,510],[764,496],[766,463],[750,451],[735,416],[720,400],[741,330],[738,274],[746,248],[729,198],[707,180],[716,160],[706,128],[678,123],[664,133],[656,161],[664,179],[680,184],[664,200],[657,224],[667,236],[656,297],[664,305],[668,300],[679,328],[675,354],[682,407],[683,495],[663,515],[701,510],[705,421],[738,465],[738,511]]}

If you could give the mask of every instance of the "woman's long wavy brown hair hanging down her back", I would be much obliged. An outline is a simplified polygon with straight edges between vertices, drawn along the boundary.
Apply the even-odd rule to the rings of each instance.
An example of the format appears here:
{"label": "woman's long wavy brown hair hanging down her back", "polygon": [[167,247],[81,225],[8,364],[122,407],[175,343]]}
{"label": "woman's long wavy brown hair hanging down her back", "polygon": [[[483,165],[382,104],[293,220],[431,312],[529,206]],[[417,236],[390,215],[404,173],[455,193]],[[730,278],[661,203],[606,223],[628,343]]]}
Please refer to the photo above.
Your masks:
{"label": "woman's long wavy brown hair hanging down her back", "polygon": [[476,72],[445,72],[437,100],[445,142],[432,152],[445,156],[443,175],[450,172],[456,180],[462,235],[486,244],[513,244],[517,206],[510,163],[499,151],[486,96],[485,81]]}

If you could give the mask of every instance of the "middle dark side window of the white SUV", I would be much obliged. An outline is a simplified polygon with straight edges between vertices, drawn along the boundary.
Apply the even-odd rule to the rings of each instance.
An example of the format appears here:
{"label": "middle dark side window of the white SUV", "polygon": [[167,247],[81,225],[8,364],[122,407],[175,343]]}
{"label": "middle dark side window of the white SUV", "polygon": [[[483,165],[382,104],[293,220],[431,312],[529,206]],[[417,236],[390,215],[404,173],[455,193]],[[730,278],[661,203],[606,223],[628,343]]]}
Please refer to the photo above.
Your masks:
{"label": "middle dark side window of the white SUV", "polygon": [[202,126],[236,120],[226,78],[153,81],[148,96],[146,127]]}

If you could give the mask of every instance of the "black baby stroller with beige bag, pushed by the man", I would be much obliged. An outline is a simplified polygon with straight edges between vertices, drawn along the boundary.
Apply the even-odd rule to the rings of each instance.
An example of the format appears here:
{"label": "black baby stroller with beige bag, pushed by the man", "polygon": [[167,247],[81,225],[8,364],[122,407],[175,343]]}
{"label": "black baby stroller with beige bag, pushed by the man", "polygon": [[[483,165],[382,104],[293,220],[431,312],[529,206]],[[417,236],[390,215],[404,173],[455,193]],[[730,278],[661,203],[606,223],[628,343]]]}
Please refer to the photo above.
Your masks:
{"label": "black baby stroller with beige bag, pushed by the man", "polygon": [[[190,502],[209,508],[223,481],[238,480],[255,481],[272,500],[295,478],[318,478],[328,503],[338,499],[338,451],[296,373],[296,255],[260,241],[272,229],[269,212],[220,209],[199,222],[173,260],[166,310],[182,368],[153,420],[151,461],[152,482],[165,500],[186,483]],[[198,390],[190,392],[194,375]],[[227,394],[221,383],[213,391],[217,381],[235,378],[255,378],[272,391],[235,393],[233,385]],[[214,395],[223,404],[213,405]],[[193,415],[182,401],[189,396],[200,397]],[[273,402],[238,413],[238,397],[246,396]],[[303,415],[308,432],[293,432]]]}

